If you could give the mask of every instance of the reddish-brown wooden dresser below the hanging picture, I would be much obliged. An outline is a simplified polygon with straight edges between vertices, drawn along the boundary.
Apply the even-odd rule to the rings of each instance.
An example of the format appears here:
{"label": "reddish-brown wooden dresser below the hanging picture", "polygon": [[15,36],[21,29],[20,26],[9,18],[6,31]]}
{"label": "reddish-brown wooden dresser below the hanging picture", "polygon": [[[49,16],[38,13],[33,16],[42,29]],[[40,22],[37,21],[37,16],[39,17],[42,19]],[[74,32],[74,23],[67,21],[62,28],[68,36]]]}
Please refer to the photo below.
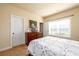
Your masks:
{"label": "reddish-brown wooden dresser below the hanging picture", "polygon": [[43,37],[41,32],[26,32],[25,33],[25,42],[28,45],[30,41]]}

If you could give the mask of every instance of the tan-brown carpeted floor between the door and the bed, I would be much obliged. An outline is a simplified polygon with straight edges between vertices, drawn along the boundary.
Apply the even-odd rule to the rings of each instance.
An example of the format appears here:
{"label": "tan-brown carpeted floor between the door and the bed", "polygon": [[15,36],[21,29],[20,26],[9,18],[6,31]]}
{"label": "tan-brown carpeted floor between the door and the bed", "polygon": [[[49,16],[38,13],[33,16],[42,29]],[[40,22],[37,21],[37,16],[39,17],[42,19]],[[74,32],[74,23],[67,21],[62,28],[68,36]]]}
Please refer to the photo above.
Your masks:
{"label": "tan-brown carpeted floor between the door and the bed", "polygon": [[20,45],[0,52],[0,56],[28,56],[27,45]]}

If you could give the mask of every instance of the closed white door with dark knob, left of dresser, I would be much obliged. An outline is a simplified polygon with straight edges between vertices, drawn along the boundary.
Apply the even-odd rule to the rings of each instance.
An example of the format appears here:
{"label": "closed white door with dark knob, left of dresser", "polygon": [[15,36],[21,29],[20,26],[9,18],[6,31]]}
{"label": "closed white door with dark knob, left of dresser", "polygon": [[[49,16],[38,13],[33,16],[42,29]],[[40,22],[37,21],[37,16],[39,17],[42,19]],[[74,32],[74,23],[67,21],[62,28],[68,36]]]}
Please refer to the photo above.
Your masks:
{"label": "closed white door with dark knob, left of dresser", "polygon": [[24,19],[19,16],[11,16],[12,47],[25,43]]}

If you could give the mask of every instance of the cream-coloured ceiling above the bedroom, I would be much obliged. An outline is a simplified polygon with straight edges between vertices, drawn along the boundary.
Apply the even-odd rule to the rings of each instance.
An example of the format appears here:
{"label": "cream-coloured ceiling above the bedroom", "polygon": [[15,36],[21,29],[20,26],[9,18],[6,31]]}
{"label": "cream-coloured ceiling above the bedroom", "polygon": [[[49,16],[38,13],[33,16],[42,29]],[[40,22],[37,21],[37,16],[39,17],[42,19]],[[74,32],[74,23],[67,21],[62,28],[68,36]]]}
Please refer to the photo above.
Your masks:
{"label": "cream-coloured ceiling above the bedroom", "polygon": [[13,4],[29,12],[36,13],[42,17],[53,15],[64,10],[76,7],[78,3],[16,3]]}

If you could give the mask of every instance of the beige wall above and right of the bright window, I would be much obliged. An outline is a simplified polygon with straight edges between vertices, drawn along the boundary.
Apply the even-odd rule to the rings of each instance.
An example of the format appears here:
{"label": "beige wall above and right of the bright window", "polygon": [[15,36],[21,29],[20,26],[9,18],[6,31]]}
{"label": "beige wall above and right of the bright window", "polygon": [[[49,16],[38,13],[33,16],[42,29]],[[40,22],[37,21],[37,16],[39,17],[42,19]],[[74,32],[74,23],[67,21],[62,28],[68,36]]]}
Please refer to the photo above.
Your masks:
{"label": "beige wall above and right of the bright window", "polygon": [[55,15],[45,17],[44,22],[54,21],[58,18],[62,18],[64,16],[68,16],[72,14],[74,16],[72,16],[72,19],[71,19],[71,39],[79,41],[79,6],[70,10],[57,13]]}

